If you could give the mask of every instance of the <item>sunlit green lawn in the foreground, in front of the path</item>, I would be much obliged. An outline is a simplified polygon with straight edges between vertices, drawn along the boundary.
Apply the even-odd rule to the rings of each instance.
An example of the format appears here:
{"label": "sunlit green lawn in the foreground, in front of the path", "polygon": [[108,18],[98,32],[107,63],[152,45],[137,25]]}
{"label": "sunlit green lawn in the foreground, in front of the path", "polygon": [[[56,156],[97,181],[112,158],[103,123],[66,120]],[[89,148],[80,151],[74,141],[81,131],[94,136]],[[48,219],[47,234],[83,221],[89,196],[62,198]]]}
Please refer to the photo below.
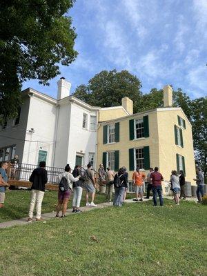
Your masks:
{"label": "sunlit green lawn in the foreground, in front of the path", "polygon": [[204,276],[206,206],[152,201],[1,229],[2,276]]}

